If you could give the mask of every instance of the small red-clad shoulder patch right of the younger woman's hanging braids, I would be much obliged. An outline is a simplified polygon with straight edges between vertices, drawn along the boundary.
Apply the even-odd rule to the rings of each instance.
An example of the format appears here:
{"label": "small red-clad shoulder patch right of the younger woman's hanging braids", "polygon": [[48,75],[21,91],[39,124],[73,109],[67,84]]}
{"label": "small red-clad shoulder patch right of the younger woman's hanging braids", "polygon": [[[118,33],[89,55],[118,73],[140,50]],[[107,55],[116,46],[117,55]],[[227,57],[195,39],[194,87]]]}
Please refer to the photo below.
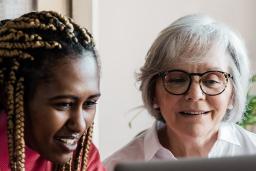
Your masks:
{"label": "small red-clad shoulder patch right of the younger woman's hanging braids", "polygon": [[92,143],[88,155],[88,171],[105,171],[98,149]]}

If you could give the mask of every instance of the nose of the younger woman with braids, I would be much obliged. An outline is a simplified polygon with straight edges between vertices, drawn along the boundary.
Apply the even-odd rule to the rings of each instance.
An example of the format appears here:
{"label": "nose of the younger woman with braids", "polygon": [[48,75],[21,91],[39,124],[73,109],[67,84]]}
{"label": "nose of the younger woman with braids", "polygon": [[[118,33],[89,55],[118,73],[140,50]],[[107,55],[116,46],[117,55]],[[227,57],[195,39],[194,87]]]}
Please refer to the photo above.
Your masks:
{"label": "nose of the younger woman with braids", "polygon": [[67,123],[69,130],[75,133],[83,133],[86,130],[85,116],[86,112],[82,109],[72,111]]}

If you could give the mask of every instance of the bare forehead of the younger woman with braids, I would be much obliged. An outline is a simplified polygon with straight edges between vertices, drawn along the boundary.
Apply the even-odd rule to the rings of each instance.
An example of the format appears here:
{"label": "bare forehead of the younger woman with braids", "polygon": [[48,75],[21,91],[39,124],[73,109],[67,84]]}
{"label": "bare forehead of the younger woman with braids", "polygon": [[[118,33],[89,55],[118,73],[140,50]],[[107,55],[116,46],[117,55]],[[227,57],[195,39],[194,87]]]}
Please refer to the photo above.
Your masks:
{"label": "bare forehead of the younger woman with braids", "polygon": [[64,59],[52,70],[49,80],[42,80],[38,90],[50,96],[73,94],[77,96],[99,93],[99,73],[95,58]]}

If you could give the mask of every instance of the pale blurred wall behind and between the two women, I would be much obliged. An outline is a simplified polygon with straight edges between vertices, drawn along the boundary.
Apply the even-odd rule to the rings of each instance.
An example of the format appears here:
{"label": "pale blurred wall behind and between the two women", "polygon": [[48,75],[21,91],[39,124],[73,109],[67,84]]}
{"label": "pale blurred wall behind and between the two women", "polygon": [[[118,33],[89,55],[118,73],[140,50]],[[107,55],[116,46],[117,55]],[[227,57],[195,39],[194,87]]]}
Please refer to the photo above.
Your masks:
{"label": "pale blurred wall behind and between the two women", "polygon": [[151,126],[135,73],[157,34],[186,14],[205,13],[244,38],[256,73],[255,0],[0,0],[0,19],[34,10],[55,10],[94,35],[102,60],[102,97],[94,142],[102,159]]}

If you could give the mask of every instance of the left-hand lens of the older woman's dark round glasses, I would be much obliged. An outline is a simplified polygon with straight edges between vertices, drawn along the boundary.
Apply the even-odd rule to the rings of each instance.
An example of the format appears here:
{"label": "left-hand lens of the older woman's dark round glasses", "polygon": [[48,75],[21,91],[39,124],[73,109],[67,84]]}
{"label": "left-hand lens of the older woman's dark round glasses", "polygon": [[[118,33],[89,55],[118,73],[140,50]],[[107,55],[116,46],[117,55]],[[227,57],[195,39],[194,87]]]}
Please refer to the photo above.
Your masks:
{"label": "left-hand lens of the older woman's dark round glasses", "polygon": [[164,77],[164,86],[171,94],[183,94],[190,83],[190,77],[182,71],[170,71]]}

